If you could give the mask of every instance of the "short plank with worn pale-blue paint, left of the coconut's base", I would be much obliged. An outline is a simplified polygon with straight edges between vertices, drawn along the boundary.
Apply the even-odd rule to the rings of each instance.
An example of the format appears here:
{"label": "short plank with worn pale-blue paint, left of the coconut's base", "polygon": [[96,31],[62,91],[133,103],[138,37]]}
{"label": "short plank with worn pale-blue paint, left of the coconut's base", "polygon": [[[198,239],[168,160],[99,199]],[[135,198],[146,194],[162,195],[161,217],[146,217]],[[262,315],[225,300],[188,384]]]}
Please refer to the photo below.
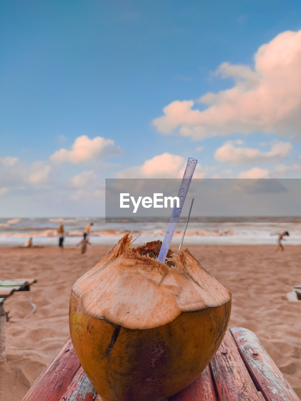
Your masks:
{"label": "short plank with worn pale-blue paint, left of the coconut's base", "polygon": [[94,401],[97,391],[80,367],[64,391],[60,401]]}

